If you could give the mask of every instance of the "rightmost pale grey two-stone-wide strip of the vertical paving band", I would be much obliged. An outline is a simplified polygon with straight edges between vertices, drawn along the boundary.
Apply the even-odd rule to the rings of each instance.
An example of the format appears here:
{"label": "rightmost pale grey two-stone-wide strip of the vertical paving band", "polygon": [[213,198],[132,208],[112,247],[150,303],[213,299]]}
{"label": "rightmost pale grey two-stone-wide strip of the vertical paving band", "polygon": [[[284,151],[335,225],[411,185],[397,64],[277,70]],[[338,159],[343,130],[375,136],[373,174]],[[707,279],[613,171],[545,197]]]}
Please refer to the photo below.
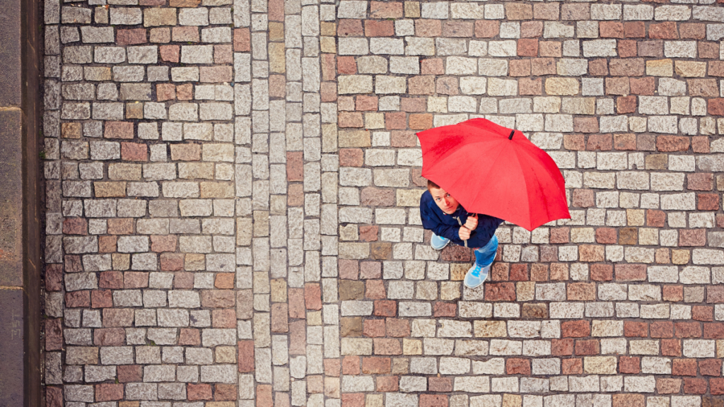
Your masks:
{"label": "rightmost pale grey two-stone-wide strip of the vertical paving band", "polygon": [[[321,21],[334,21],[334,4],[319,1],[303,1],[300,7],[301,54],[300,75],[302,90],[303,133],[303,192],[304,192],[304,280],[321,293],[322,327],[308,327],[319,335],[319,341],[307,344],[308,374],[325,374],[325,397],[311,394],[308,406],[339,406],[340,381],[327,376],[324,360],[340,358],[339,311],[337,306],[337,172],[339,157],[335,143],[325,143],[324,138],[336,136],[336,98],[322,101],[322,65],[325,52],[334,52],[329,44],[321,41]],[[333,30],[333,28],[332,28]],[[329,39],[329,38],[328,38]],[[329,56],[329,55],[327,55]],[[334,64],[329,67],[334,75]],[[292,73],[292,72],[290,72]],[[327,75],[330,75],[329,72]],[[309,307],[308,307],[309,308]],[[316,314],[308,309],[308,318]],[[313,330],[313,331],[309,331]],[[324,400],[323,400],[324,399]]]}

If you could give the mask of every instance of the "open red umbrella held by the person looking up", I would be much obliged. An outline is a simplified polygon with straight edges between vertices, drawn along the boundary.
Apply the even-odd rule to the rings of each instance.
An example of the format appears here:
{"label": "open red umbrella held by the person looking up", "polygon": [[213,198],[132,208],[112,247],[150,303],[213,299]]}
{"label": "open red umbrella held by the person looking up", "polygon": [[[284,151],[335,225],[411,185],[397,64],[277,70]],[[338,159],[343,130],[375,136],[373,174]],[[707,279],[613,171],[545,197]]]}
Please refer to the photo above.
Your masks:
{"label": "open red umbrella held by the person looking up", "polygon": [[565,182],[552,158],[523,133],[487,119],[417,133],[422,176],[466,211],[499,217],[534,230],[568,219]]}

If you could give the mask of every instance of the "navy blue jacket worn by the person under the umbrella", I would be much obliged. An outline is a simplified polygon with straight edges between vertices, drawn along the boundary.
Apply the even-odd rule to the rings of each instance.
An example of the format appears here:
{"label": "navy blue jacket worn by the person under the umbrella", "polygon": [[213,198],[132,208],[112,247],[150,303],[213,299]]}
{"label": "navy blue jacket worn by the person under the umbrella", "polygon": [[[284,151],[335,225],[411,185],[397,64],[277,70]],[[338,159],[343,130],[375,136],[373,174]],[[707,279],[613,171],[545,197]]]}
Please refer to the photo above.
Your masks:
{"label": "navy blue jacket worn by the person under the umbrella", "polygon": [[[422,226],[427,230],[432,230],[435,235],[442,238],[452,240],[459,246],[469,248],[479,248],[487,245],[488,241],[495,234],[497,227],[503,222],[502,219],[491,217],[489,215],[478,215],[478,227],[470,234],[467,241],[460,240],[460,226],[465,225],[468,220],[468,211],[462,205],[458,205],[452,214],[446,214],[435,204],[429,190],[420,197],[420,217],[422,218]],[[467,244],[466,244],[467,243]]]}

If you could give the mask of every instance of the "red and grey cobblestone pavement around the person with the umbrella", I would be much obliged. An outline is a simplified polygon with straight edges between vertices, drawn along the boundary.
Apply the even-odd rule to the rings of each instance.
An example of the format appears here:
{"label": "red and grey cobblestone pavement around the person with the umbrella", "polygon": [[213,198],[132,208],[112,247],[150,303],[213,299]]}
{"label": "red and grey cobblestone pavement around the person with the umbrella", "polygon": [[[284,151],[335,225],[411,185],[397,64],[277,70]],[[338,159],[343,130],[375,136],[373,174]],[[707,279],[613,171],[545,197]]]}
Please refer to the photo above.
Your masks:
{"label": "red and grey cobblestone pavement around the person with the umbrella", "polygon": [[[45,0],[48,407],[722,407],[724,4]],[[486,117],[571,220],[429,246]]]}

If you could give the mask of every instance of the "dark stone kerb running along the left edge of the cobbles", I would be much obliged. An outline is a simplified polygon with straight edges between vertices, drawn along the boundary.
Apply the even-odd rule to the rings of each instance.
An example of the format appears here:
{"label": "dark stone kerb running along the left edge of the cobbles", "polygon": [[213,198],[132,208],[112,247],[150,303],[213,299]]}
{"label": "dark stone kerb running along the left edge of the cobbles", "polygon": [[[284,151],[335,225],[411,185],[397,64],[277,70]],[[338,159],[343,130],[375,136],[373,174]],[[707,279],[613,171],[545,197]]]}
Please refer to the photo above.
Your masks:
{"label": "dark stone kerb running along the left edge of the cobbles", "polygon": [[0,407],[42,404],[39,4],[0,12]]}

